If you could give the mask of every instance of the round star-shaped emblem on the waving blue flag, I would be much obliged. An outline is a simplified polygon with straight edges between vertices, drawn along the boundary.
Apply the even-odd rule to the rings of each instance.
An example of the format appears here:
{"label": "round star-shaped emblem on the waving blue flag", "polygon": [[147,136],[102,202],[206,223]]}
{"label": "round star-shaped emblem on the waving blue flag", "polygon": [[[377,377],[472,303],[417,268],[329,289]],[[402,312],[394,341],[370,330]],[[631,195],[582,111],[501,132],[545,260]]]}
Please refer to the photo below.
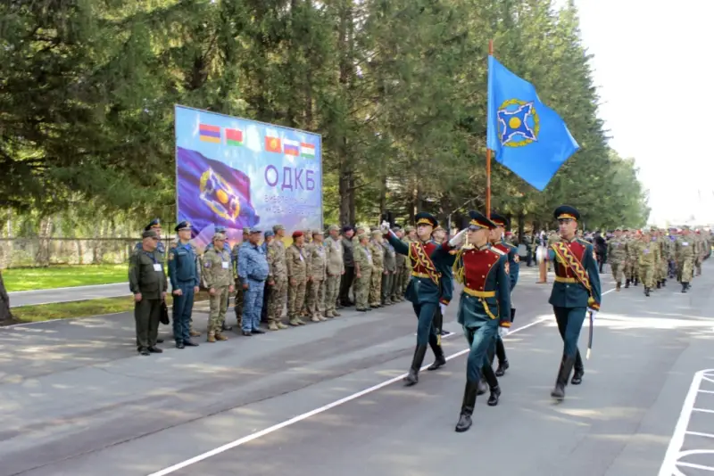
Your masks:
{"label": "round star-shaped emblem on the waving blue flag", "polygon": [[538,140],[541,124],[533,102],[510,99],[501,104],[496,114],[503,146],[523,147]]}

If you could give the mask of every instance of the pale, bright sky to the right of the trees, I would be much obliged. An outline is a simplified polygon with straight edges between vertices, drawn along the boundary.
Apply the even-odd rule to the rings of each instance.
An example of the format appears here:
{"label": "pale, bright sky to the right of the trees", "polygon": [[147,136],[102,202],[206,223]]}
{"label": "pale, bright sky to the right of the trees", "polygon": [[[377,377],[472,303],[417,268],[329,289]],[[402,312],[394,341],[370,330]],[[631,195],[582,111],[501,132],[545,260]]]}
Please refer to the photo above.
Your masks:
{"label": "pale, bright sky to the right of the trees", "polygon": [[610,146],[640,168],[651,223],[691,215],[714,223],[714,0],[576,4],[583,44],[595,56],[600,117]]}

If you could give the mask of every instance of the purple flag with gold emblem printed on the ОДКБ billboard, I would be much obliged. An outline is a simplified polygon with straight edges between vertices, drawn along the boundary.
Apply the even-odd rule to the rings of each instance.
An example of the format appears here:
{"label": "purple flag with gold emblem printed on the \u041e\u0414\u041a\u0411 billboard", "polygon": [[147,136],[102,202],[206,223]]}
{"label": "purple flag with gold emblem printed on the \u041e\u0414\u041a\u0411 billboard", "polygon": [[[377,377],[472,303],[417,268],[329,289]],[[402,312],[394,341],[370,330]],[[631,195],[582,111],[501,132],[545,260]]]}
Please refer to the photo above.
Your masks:
{"label": "purple flag with gold emblem printed on the \u041e\u0414\u041a\u0411 billboard", "polygon": [[239,229],[258,224],[251,181],[243,172],[183,147],[177,147],[176,164],[178,221],[188,220],[196,233],[210,225]]}

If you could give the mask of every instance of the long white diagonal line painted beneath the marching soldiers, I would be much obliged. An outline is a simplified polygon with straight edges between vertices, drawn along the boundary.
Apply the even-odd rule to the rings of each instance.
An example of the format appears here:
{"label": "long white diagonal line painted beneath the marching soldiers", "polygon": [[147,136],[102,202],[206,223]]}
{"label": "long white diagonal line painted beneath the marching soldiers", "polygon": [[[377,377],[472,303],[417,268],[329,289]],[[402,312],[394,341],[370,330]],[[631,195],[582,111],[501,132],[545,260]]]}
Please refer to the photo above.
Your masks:
{"label": "long white diagonal line painted beneath the marching soldiers", "polygon": [[[547,319],[550,319],[550,316],[549,317],[541,317],[539,319],[536,319],[532,323],[523,325],[517,329],[512,330],[511,332],[509,332],[509,335],[514,334],[516,332],[526,330],[528,327],[532,327],[535,324],[541,324],[542,322],[544,322]],[[506,337],[506,340],[508,340],[508,337]],[[452,360],[452,358],[461,357],[462,355],[466,354],[467,352],[469,352],[469,349],[460,350],[459,352],[456,352],[455,354],[452,354],[451,356],[446,357],[446,360]],[[423,371],[429,365],[422,366],[421,370]],[[377,385],[373,385],[372,387],[369,387],[369,389],[364,389],[364,390],[358,391],[356,393],[353,393],[352,395],[348,395],[345,398],[340,398],[339,400],[335,400],[332,403],[328,403],[328,405],[320,406],[320,408],[315,408],[314,410],[311,410],[310,412],[307,412],[304,414],[298,414],[297,416],[294,416],[293,418],[290,418],[289,420],[274,424],[273,426],[270,426],[269,428],[266,428],[265,430],[256,431],[255,433],[247,435],[241,439],[236,439],[235,441],[231,441],[230,443],[227,443],[227,444],[223,445],[222,447],[217,447],[215,449],[212,449],[211,451],[207,451],[207,452],[203,453],[202,455],[194,456],[193,458],[187,459],[186,461],[182,461],[181,463],[178,463],[178,464],[174,464],[173,466],[169,466],[168,468],[162,469],[161,471],[152,472],[148,476],[166,476],[167,474],[170,474],[172,472],[177,472],[180,469],[190,466],[191,464],[199,463],[199,462],[203,461],[204,459],[208,459],[215,455],[220,455],[220,453],[228,451],[228,449],[233,449],[234,447],[239,447],[241,445],[245,445],[245,443],[253,441],[254,439],[259,439],[265,435],[269,435],[270,433],[273,433],[275,431],[286,428],[287,426],[293,425],[298,422],[302,422],[303,420],[306,420],[306,419],[310,418],[311,416],[327,412],[331,408],[335,408],[336,406],[341,406],[341,405],[343,405],[347,402],[350,402],[356,398],[360,398],[360,397],[363,397],[363,396],[365,396],[369,393],[372,393],[376,390],[383,389],[395,382],[401,381],[406,376],[407,376],[407,373],[403,373],[403,374],[398,375],[398,376],[396,376],[392,379],[389,379],[385,382],[381,382],[381,383],[378,383]]]}

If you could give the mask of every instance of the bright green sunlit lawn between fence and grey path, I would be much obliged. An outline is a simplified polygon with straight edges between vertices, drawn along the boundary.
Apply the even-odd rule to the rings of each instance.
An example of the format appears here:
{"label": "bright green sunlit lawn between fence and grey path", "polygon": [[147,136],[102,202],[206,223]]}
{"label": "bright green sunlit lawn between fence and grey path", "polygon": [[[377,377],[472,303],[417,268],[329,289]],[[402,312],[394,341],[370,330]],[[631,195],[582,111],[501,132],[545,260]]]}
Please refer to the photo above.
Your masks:
{"label": "bright green sunlit lawn between fence and grey path", "polygon": [[3,270],[8,292],[126,283],[129,265],[17,267]]}

